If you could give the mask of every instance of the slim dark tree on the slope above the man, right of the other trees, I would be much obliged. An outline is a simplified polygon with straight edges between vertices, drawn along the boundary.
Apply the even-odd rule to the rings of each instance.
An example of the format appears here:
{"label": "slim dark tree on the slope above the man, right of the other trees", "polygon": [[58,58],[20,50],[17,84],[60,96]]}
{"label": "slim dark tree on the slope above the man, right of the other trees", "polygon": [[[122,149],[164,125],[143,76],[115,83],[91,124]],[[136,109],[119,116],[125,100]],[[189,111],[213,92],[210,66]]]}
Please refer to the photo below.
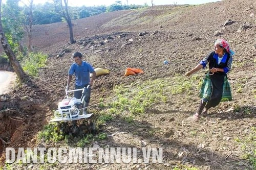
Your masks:
{"label": "slim dark tree on the slope above the man, right of the other trees", "polygon": [[70,35],[70,43],[75,43],[74,35],[73,35],[73,26],[71,22],[71,18],[68,10],[68,0],[63,0],[65,7],[63,7],[62,0],[53,0],[55,5],[55,10],[59,13],[68,23],[69,26],[69,35]]}

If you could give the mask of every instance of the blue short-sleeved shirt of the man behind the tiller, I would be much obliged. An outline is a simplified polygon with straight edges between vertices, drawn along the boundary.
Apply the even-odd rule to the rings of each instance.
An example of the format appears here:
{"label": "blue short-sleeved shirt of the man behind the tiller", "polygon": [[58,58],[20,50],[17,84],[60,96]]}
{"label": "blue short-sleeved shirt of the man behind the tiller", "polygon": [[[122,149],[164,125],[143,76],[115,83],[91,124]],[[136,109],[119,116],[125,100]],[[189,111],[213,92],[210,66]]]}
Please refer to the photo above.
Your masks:
{"label": "blue short-sleeved shirt of the man behind the tiller", "polygon": [[82,61],[81,65],[73,63],[69,69],[69,75],[75,74],[77,86],[84,86],[90,83],[90,73],[94,72],[94,68],[87,62]]}

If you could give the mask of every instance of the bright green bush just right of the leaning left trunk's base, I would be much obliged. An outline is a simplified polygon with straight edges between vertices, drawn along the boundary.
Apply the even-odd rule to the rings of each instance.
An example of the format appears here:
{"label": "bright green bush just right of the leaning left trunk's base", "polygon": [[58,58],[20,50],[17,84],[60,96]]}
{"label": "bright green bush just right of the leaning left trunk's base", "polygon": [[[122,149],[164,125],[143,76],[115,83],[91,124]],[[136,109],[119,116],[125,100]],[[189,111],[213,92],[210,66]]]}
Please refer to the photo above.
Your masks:
{"label": "bright green bush just right of the leaning left trunk's base", "polygon": [[28,57],[22,61],[24,71],[28,75],[36,77],[38,74],[38,68],[46,65],[47,55],[42,53],[30,53]]}

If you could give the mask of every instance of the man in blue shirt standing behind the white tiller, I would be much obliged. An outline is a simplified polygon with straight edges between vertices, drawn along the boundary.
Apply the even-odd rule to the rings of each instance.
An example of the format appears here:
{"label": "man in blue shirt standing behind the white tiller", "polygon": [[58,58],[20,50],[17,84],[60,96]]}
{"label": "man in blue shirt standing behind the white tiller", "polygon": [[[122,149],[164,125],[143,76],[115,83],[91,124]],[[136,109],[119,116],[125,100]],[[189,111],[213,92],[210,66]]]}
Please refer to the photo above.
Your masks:
{"label": "man in blue shirt standing behind the white tiller", "polygon": [[[73,54],[73,58],[75,62],[71,65],[69,69],[69,76],[68,76],[68,84],[66,89],[69,89],[69,84],[72,80],[72,75],[75,74],[76,81],[75,81],[75,89],[81,89],[83,87],[87,87],[88,85],[92,86],[93,81],[96,79],[96,72],[94,71],[94,68],[89,64],[88,62],[82,61],[82,54],[79,52],[75,52]],[[90,80],[90,73],[92,73],[92,78]],[[88,90],[91,91],[91,88]],[[89,91],[89,94],[90,94]],[[74,97],[76,99],[81,99],[82,96],[82,90],[75,91]],[[84,107],[87,107],[90,102],[90,96],[89,98],[86,98],[86,105]]]}

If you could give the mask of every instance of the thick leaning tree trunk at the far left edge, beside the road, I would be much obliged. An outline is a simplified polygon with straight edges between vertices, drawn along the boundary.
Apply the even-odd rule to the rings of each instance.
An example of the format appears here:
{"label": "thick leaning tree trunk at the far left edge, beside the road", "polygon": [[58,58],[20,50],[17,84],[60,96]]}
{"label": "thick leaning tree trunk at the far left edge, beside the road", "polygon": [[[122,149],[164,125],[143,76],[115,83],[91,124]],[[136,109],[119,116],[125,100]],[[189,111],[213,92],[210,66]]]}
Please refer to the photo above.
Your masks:
{"label": "thick leaning tree trunk at the far left edge, beside the road", "polygon": [[4,48],[4,51],[12,65],[14,71],[16,72],[18,79],[20,80],[20,82],[25,83],[29,80],[29,77],[25,74],[22,66],[17,61],[17,58],[16,58],[15,54],[13,53],[10,44],[7,41],[7,38],[3,31],[3,26],[2,26],[1,8],[2,8],[2,0],[0,0],[0,40],[1,40],[1,44]]}

